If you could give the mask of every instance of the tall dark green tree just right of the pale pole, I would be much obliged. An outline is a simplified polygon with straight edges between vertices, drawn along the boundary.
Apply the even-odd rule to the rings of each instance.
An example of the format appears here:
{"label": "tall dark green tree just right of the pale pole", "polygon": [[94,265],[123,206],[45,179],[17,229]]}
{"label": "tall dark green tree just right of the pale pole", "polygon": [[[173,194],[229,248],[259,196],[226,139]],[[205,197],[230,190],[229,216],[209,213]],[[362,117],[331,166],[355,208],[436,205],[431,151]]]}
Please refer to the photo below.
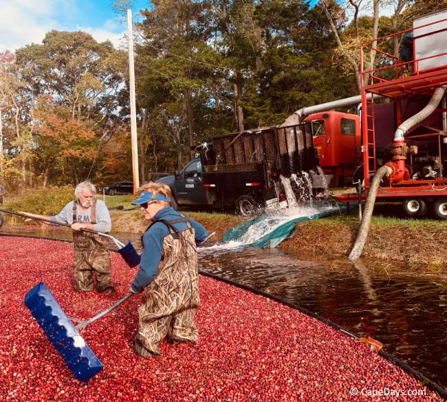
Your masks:
{"label": "tall dark green tree just right of the pale pole", "polygon": [[200,137],[195,109],[217,58],[206,43],[208,12],[203,1],[154,1],[151,10],[142,12],[144,21],[138,25],[142,38],[137,47],[138,93],[142,95],[137,102],[144,113],[164,119],[160,136],[173,138],[177,166],[183,164],[182,148],[193,146]]}

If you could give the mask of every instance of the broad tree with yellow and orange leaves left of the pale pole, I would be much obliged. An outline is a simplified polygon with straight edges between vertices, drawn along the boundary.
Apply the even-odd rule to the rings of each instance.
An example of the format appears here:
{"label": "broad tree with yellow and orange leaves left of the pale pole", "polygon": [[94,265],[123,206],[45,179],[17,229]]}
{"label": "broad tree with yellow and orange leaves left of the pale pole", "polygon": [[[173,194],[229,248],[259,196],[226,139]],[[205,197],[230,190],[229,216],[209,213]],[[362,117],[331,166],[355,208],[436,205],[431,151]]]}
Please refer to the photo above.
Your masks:
{"label": "broad tree with yellow and orange leaves left of the pale pole", "polygon": [[[30,100],[28,115],[37,119],[35,165],[45,184],[53,177],[76,182],[100,169],[102,154],[96,147],[107,143],[121,124],[123,65],[122,52],[85,32],[51,31],[42,44],[17,51],[17,76]],[[69,162],[68,169],[63,161]]]}

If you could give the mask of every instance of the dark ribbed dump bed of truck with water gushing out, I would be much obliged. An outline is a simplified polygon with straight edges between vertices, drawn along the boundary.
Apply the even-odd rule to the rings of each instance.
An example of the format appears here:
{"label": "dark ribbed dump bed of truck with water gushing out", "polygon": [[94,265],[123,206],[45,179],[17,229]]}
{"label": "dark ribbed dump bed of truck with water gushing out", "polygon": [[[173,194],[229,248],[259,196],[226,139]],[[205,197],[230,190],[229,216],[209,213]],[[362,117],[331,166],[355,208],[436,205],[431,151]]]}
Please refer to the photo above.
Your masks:
{"label": "dark ribbed dump bed of truck with water gushing out", "polygon": [[325,175],[308,123],[217,135],[196,146],[212,208],[242,215],[285,208],[325,194]]}

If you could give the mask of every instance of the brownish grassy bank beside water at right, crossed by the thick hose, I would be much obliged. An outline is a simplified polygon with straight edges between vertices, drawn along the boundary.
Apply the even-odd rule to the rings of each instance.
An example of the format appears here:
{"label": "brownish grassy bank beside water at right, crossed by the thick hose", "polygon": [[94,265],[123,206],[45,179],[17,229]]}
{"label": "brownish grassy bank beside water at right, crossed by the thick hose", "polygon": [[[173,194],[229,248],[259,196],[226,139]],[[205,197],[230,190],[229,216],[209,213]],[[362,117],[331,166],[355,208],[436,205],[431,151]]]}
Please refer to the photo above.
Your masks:
{"label": "brownish grassy bank beside water at right, crossed by the thick hose", "polygon": [[[320,256],[347,256],[356,240],[358,226],[358,218],[353,215],[298,223],[297,234],[281,243],[280,247],[303,249]],[[445,269],[447,222],[374,216],[362,257],[426,264],[435,270]]]}

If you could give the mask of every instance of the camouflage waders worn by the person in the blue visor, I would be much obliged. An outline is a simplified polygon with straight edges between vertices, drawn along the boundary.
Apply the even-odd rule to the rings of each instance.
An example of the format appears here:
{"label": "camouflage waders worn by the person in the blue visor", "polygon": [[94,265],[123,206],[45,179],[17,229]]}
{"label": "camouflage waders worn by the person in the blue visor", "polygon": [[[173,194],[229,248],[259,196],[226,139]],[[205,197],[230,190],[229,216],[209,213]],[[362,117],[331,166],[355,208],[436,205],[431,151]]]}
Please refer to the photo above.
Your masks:
{"label": "camouflage waders worn by the person in the blue visor", "polygon": [[[160,220],[162,221],[162,220]],[[142,356],[160,355],[160,341],[197,341],[194,316],[199,306],[199,272],[194,229],[184,219],[162,221],[170,234],[164,237],[162,260],[155,279],[147,287],[138,308],[135,348]],[[171,223],[186,222],[178,232]]]}

